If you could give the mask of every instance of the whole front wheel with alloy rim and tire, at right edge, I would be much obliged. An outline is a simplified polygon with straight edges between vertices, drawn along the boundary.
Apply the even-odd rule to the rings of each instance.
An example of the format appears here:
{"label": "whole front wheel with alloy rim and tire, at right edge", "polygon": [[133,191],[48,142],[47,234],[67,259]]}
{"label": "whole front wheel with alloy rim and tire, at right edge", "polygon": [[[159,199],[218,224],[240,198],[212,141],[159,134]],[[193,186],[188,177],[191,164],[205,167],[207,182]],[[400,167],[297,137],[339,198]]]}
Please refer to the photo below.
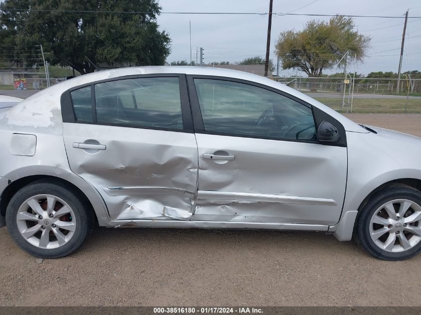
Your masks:
{"label": "whole front wheel with alloy rim and tire, at right edge", "polygon": [[383,260],[404,260],[421,252],[421,192],[394,184],[361,210],[356,234],[363,247]]}

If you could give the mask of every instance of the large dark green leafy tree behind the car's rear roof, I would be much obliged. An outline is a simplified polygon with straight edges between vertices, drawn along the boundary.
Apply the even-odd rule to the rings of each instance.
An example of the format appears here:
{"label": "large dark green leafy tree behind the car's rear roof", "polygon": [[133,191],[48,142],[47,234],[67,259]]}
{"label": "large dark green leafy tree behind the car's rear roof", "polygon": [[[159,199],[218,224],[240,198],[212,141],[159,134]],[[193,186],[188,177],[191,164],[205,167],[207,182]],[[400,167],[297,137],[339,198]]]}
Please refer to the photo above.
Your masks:
{"label": "large dark green leafy tree behind the car's rear roof", "polygon": [[19,45],[7,52],[14,63],[30,67],[39,66],[39,60],[31,59],[33,46],[22,52],[22,45],[42,44],[52,65],[70,66],[81,74],[102,63],[163,65],[170,38],[158,30],[160,9],[157,0],[5,0],[0,3],[0,45]]}

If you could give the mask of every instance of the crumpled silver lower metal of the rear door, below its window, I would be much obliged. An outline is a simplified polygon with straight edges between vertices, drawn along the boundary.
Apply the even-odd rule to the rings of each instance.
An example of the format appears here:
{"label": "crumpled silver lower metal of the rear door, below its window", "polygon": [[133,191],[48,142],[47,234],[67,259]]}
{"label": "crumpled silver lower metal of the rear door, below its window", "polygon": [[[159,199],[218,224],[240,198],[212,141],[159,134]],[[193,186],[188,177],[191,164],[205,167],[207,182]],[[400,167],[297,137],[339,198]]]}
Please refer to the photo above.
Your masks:
{"label": "crumpled silver lower metal of the rear door, below its window", "polygon": [[[197,182],[194,133],[64,123],[63,138],[71,170],[97,189],[112,219],[190,219]],[[73,146],[87,139],[106,149]]]}

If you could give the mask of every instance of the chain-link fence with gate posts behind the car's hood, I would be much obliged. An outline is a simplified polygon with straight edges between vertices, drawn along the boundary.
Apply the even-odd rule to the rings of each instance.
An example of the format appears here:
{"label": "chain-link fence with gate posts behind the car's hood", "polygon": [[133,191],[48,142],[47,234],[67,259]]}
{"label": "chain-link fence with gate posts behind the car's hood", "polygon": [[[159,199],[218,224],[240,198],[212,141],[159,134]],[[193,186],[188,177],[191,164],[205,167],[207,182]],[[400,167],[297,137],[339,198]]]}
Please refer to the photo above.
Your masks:
{"label": "chain-link fence with gate posts behind the car's hood", "polygon": [[271,77],[342,112],[421,113],[421,78]]}

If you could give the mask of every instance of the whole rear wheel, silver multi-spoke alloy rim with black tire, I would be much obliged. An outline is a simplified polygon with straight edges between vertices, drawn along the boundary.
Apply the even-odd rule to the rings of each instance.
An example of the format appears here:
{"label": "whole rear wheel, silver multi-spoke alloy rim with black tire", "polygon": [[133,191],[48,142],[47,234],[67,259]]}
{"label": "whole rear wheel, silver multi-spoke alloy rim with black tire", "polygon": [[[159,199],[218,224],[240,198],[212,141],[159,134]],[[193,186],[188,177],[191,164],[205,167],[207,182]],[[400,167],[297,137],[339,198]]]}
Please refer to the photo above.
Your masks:
{"label": "whole rear wheel, silver multi-spoke alloy rim with black tire", "polygon": [[67,256],[92,230],[92,211],[87,206],[72,187],[38,181],[10,200],[7,228],[19,247],[36,257]]}

